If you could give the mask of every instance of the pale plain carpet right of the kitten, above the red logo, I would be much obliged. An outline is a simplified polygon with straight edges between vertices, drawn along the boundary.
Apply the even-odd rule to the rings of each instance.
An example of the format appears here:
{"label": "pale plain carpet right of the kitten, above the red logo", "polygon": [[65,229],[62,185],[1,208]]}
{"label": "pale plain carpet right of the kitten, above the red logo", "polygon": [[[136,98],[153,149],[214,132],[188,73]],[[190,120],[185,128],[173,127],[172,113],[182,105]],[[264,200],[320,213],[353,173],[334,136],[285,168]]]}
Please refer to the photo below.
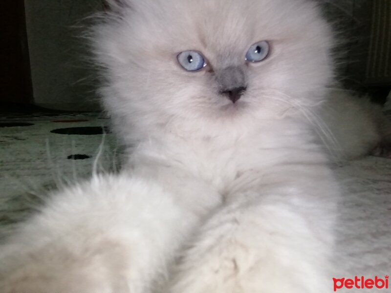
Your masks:
{"label": "pale plain carpet right of the kitten, above the red logo", "polygon": [[367,157],[336,173],[346,192],[337,227],[340,271],[333,277],[384,278],[391,274],[391,159]]}

